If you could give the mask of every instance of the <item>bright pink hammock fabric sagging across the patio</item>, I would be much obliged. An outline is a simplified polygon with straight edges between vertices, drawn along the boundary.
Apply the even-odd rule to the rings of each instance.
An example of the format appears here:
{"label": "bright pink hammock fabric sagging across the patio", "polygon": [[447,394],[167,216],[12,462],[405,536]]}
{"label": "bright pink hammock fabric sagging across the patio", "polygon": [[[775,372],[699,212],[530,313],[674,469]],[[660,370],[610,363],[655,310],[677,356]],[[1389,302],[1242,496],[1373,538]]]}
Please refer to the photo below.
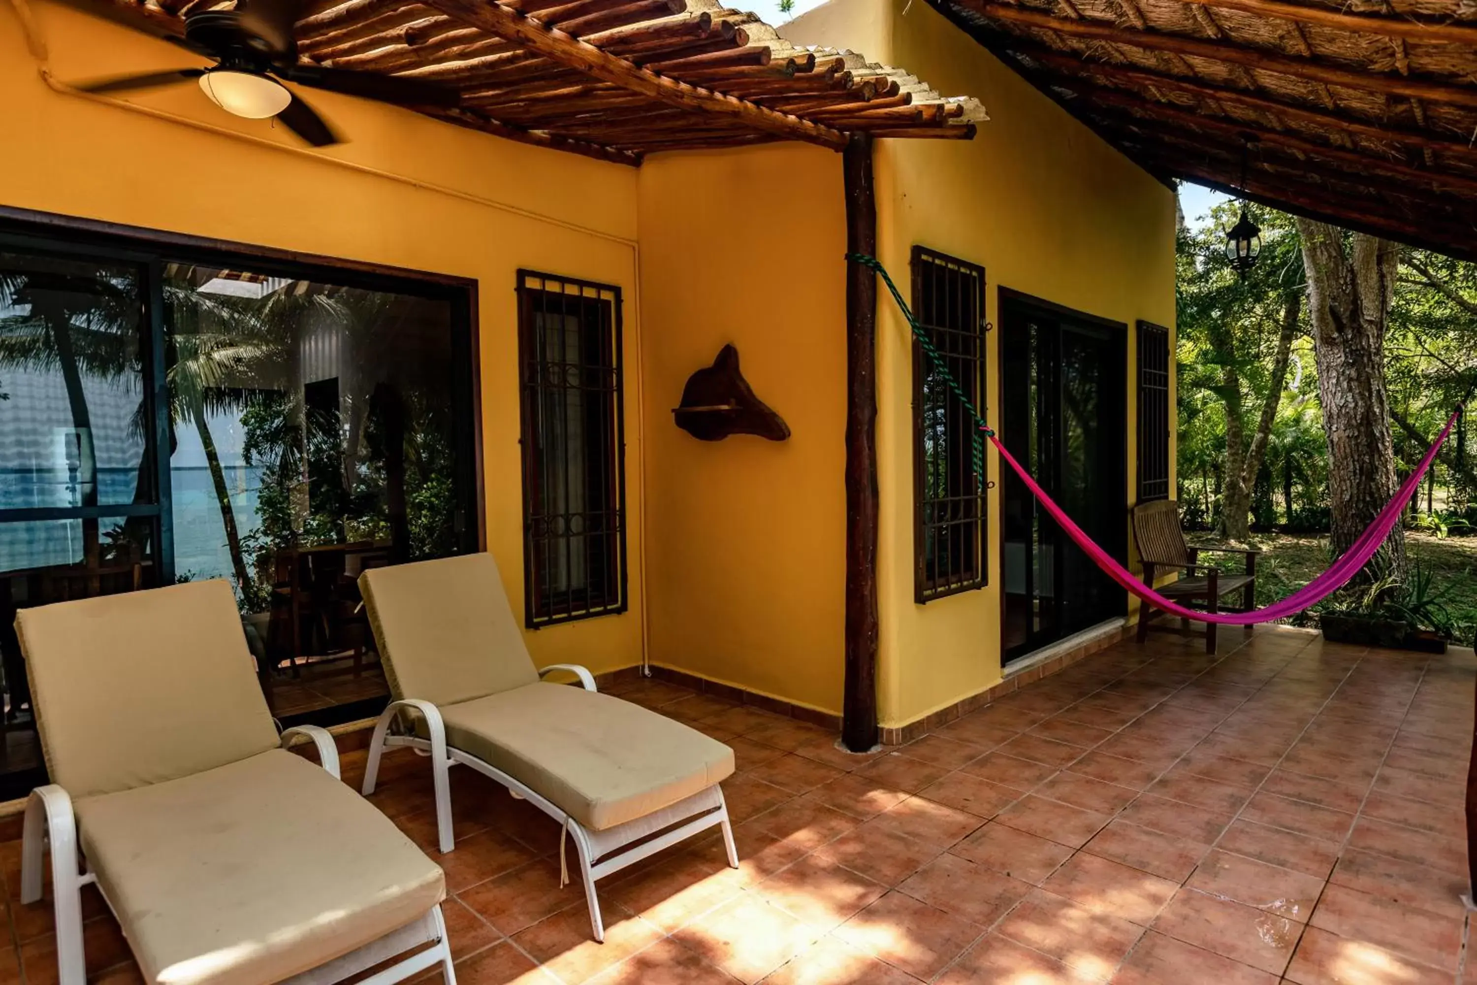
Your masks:
{"label": "bright pink hammock fabric sagging across the patio", "polygon": [[1041,489],[1034,478],[1031,478],[1031,474],[1015,459],[1015,455],[1006,450],[1006,446],[998,437],[995,437],[994,431],[987,430],[985,436],[990,439],[990,443],[995,446],[995,450],[1000,452],[1000,458],[1015,470],[1016,476],[1021,477],[1021,481],[1025,483],[1027,489],[1029,489],[1035,498],[1041,501],[1041,505],[1046,507],[1049,514],[1052,514],[1052,518],[1056,520],[1058,526],[1066,532],[1066,536],[1069,536],[1077,546],[1086,551],[1087,557],[1090,557],[1097,567],[1106,572],[1112,580],[1118,582],[1155,608],[1162,608],[1174,616],[1229,626],[1250,626],[1252,623],[1272,622],[1275,619],[1291,616],[1292,613],[1300,613],[1309,605],[1328,598],[1343,588],[1344,583],[1347,583],[1349,579],[1351,579],[1359,569],[1362,569],[1365,563],[1375,555],[1375,551],[1378,551],[1380,545],[1384,543],[1384,539],[1390,535],[1390,530],[1394,529],[1394,524],[1400,523],[1400,514],[1405,509],[1405,505],[1411,502],[1411,496],[1415,495],[1416,487],[1421,484],[1421,477],[1425,476],[1431,462],[1436,461],[1436,453],[1442,450],[1446,436],[1450,434],[1452,425],[1456,424],[1456,418],[1461,416],[1461,413],[1462,408],[1458,406],[1456,411],[1452,412],[1452,416],[1446,419],[1446,427],[1442,428],[1442,433],[1437,436],[1436,443],[1431,445],[1431,449],[1425,453],[1425,458],[1422,458],[1416,470],[1411,473],[1411,477],[1402,483],[1400,489],[1394,495],[1394,499],[1385,504],[1385,508],[1380,511],[1375,521],[1359,535],[1359,539],[1350,545],[1349,551],[1346,551],[1341,558],[1334,561],[1332,567],[1282,601],[1272,603],[1266,608],[1257,608],[1250,613],[1207,613],[1196,608],[1186,608],[1185,605],[1171,603],[1164,595],[1159,595],[1156,591],[1134,577],[1133,572],[1125,569],[1123,564],[1118,564],[1112,555],[1093,543],[1093,539],[1083,533],[1083,529],[1072,523],[1072,518],[1068,517],[1060,507],[1052,502],[1052,498],[1046,495],[1046,490]]}

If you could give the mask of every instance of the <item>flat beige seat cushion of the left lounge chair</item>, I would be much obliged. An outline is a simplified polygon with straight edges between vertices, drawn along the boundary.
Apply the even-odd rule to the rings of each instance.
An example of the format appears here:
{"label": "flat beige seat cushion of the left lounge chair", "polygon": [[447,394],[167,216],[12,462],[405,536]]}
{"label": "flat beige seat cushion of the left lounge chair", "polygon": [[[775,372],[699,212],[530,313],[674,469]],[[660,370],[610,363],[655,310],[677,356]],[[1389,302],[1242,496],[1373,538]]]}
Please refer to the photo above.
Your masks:
{"label": "flat beige seat cushion of the left lounge chair", "polygon": [[388,818],[279,749],[75,809],[87,862],[155,985],[278,982],[446,895],[442,870]]}

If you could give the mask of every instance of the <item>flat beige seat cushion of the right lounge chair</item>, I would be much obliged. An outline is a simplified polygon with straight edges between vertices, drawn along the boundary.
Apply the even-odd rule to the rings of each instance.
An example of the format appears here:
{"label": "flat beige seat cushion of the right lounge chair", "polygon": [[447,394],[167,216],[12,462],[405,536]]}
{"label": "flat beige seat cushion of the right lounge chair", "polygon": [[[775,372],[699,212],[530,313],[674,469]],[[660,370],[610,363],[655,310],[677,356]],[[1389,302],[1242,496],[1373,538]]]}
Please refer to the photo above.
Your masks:
{"label": "flat beige seat cushion of the right lounge chair", "polygon": [[597,831],[671,806],[734,771],[733,750],[700,731],[564,684],[530,684],[440,712],[450,746]]}

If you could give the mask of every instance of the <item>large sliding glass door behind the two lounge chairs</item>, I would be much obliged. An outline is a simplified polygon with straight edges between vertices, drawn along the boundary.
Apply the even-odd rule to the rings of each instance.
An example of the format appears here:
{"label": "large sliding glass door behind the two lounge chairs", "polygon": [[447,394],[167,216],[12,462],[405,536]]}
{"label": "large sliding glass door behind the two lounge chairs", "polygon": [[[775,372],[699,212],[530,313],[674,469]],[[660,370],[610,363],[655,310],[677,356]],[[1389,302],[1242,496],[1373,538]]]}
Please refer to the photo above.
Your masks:
{"label": "large sliding glass door behind the two lounge chairs", "polygon": [[226,579],[279,719],[383,707],[357,574],[477,548],[470,304],[0,229],[0,796],[38,777],[28,605]]}

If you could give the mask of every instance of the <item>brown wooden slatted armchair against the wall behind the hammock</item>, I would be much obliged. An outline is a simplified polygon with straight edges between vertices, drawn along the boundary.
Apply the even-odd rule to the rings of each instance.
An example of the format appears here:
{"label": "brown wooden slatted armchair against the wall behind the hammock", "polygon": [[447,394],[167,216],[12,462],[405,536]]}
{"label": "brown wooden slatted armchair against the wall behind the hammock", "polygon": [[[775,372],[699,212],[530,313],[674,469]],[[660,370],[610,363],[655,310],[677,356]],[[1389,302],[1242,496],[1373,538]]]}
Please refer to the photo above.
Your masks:
{"label": "brown wooden slatted armchair against the wall behind the hammock", "polygon": [[[1154,588],[1154,579],[1168,569],[1180,569],[1185,576],[1155,591],[1165,598],[1195,607],[1199,603],[1205,611],[1250,613],[1257,605],[1257,555],[1261,551],[1247,548],[1190,546],[1180,530],[1180,508],[1173,499],[1155,499],[1133,508],[1133,540],[1139,546],[1143,563],[1143,583]],[[1199,563],[1202,551],[1217,554],[1241,554],[1247,567],[1244,574],[1223,574],[1220,569]],[[1220,600],[1241,592],[1241,608],[1221,608]],[[1148,603],[1139,607],[1139,642],[1149,635],[1149,622],[1158,616]],[[1250,626],[1248,626],[1250,629]],[[1205,653],[1216,653],[1216,623],[1205,623]]]}

